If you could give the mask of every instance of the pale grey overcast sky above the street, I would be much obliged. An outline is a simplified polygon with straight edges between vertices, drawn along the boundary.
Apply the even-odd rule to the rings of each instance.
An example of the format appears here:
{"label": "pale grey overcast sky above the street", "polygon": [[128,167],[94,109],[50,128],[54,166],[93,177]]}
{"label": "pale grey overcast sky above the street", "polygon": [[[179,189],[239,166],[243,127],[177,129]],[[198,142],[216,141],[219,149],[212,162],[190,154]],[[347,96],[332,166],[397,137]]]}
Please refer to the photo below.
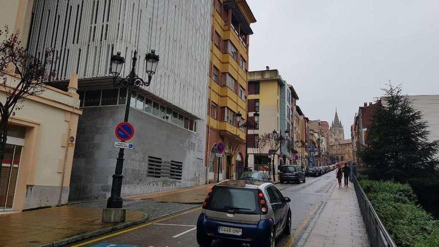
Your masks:
{"label": "pale grey overcast sky above the street", "polygon": [[310,119],[334,118],[350,138],[363,102],[388,79],[410,95],[439,94],[438,0],[247,0],[249,69],[269,65]]}

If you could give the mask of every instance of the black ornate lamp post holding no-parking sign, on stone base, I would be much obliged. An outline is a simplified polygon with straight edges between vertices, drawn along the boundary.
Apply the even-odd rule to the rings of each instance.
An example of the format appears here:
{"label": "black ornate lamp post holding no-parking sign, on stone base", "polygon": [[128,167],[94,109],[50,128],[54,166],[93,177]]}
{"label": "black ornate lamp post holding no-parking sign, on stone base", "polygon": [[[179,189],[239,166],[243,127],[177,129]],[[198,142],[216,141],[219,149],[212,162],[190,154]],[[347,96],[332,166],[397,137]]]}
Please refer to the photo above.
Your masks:
{"label": "black ornate lamp post holding no-parking sign, on stone base", "polygon": [[[149,86],[151,83],[152,76],[156,72],[157,63],[159,62],[159,56],[155,53],[155,50],[151,50],[150,53],[145,55],[146,60],[146,72],[148,73],[148,81],[144,81],[136,74],[136,61],[137,61],[137,51],[134,51],[134,56],[132,58],[133,64],[131,67],[130,74],[121,80],[119,78],[120,72],[122,71],[122,66],[125,63],[125,58],[120,56],[120,52],[116,55],[111,56],[111,73],[113,74],[113,85],[115,87],[125,87],[127,88],[127,104],[125,108],[124,122],[128,122],[128,116],[130,114],[130,102],[131,102],[131,91],[133,86]],[[123,213],[118,212],[118,209],[122,209],[123,200],[121,195],[122,189],[122,170],[124,162],[124,150],[119,149],[119,154],[116,162],[116,169],[114,172],[113,182],[111,185],[111,196],[107,200],[107,208],[104,209],[102,215],[102,222],[124,222],[125,221],[125,211]]]}

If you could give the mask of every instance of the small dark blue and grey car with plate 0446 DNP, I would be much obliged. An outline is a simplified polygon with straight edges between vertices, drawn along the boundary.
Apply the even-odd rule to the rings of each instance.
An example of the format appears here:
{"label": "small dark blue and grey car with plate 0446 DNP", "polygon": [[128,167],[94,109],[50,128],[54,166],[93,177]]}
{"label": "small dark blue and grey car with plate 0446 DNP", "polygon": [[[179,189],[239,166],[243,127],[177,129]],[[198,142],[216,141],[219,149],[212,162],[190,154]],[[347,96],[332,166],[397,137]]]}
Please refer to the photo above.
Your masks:
{"label": "small dark blue and grey car with plate 0446 DNP", "polygon": [[203,203],[197,242],[202,247],[217,239],[274,247],[278,236],[291,233],[290,201],[271,183],[223,181],[209,191]]}

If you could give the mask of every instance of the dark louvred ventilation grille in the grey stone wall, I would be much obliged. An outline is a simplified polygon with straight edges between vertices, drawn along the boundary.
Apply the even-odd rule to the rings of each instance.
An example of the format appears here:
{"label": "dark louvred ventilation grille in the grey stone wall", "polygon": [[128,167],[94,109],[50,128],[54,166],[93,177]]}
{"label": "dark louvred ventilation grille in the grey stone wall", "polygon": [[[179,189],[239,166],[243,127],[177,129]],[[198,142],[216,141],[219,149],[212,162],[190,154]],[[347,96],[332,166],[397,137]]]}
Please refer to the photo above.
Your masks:
{"label": "dark louvred ventilation grille in the grey stone wall", "polygon": [[148,156],[148,175],[152,178],[169,178],[182,180],[183,163],[164,161],[161,158]]}

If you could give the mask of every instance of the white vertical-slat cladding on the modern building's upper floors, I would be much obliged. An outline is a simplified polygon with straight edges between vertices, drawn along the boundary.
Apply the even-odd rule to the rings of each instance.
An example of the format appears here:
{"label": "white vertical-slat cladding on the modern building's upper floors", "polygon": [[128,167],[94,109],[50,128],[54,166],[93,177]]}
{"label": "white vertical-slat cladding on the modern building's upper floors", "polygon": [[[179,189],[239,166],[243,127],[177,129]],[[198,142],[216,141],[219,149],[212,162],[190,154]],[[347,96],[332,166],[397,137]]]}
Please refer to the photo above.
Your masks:
{"label": "white vertical-slat cladding on the modern building's upper floors", "polygon": [[209,0],[35,0],[28,49],[42,59],[53,48],[58,80],[109,76],[111,53],[138,51],[137,73],[147,78],[144,56],[160,55],[152,83],[144,88],[200,119],[206,118]]}

